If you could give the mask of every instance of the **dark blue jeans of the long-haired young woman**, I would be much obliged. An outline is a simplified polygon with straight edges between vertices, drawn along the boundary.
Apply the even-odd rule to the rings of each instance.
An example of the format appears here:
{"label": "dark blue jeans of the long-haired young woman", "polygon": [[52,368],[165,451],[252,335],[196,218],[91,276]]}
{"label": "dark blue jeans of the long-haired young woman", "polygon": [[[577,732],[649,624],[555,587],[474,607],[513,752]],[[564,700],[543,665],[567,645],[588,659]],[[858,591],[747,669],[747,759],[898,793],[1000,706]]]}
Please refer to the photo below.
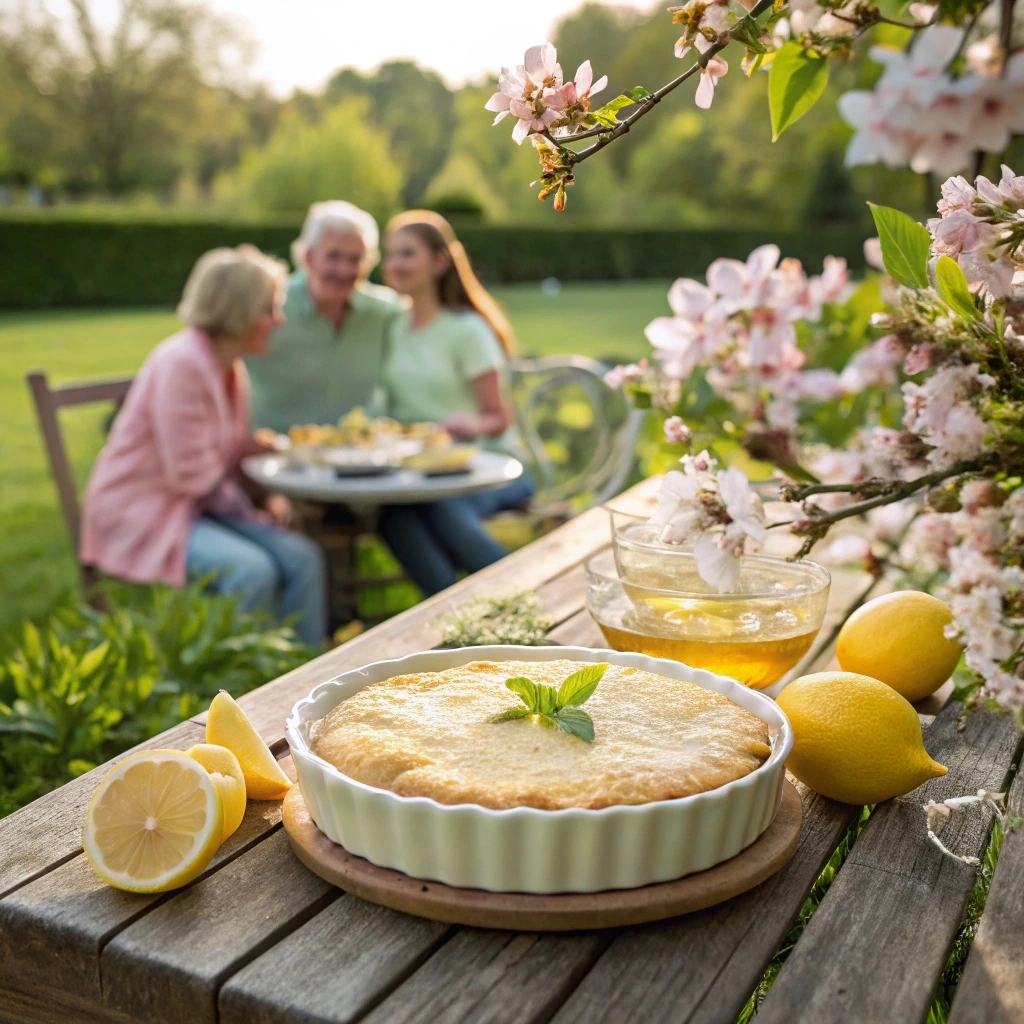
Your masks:
{"label": "dark blue jeans of the long-haired young woman", "polygon": [[483,520],[532,497],[532,485],[520,477],[465,498],[390,506],[381,510],[381,536],[413,582],[425,594],[436,594],[458,580],[460,569],[476,572],[508,554]]}

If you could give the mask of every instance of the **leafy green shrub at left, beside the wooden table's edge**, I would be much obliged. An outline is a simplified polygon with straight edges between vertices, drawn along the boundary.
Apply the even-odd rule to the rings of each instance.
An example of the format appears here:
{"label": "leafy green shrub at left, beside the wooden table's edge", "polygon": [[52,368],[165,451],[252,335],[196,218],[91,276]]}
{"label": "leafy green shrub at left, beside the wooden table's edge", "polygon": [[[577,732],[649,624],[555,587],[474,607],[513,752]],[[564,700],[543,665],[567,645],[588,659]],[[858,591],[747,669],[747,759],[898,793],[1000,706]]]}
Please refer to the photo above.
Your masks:
{"label": "leafy green shrub at left, beside the wooden table's edge", "polygon": [[116,592],[58,608],[0,662],[0,816],[308,660],[289,627],[199,587]]}

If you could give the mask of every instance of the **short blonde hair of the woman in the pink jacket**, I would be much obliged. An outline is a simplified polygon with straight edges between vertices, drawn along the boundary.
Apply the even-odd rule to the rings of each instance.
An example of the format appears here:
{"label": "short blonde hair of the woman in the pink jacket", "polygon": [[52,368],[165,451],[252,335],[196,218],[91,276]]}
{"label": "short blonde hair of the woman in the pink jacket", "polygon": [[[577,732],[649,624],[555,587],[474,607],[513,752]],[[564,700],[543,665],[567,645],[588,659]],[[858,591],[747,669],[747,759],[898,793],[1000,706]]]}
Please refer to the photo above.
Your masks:
{"label": "short blonde hair of the woman in the pink jacket", "polygon": [[191,268],[178,316],[212,338],[243,337],[284,287],[288,266],[255,246],[211,249]]}

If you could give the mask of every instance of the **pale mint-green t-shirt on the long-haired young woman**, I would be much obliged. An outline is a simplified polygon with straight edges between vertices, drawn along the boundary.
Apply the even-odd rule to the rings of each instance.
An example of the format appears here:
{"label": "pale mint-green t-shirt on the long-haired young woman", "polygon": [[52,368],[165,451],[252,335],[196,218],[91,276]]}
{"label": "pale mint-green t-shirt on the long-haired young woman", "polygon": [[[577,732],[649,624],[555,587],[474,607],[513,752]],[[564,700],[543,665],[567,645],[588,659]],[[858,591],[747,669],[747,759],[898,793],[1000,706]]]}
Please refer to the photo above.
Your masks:
{"label": "pale mint-green t-shirt on the long-haired young woman", "polygon": [[[441,310],[426,327],[412,330],[403,311],[388,332],[381,371],[384,410],[400,423],[440,423],[453,413],[480,412],[473,381],[508,359],[490,325],[475,312]],[[512,430],[480,438],[487,447],[509,451]]]}

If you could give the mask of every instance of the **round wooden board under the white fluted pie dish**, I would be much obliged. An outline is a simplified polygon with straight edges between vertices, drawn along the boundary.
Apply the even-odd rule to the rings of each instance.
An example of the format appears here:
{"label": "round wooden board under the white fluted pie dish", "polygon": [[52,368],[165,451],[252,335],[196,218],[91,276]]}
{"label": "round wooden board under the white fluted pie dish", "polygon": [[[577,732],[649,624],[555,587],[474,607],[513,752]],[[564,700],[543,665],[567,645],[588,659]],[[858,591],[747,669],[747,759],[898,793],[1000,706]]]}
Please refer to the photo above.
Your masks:
{"label": "round wooden board under the white fluted pie dish", "polygon": [[332,843],[316,827],[297,785],[292,786],[284,806],[285,830],[295,855],[322,879],[372,903],[419,918],[523,932],[640,925],[721,903],[764,882],[793,856],[802,820],[800,795],[784,781],[782,803],[774,821],[731,860],[674,882],[640,889],[546,896],[456,889],[378,867]]}

